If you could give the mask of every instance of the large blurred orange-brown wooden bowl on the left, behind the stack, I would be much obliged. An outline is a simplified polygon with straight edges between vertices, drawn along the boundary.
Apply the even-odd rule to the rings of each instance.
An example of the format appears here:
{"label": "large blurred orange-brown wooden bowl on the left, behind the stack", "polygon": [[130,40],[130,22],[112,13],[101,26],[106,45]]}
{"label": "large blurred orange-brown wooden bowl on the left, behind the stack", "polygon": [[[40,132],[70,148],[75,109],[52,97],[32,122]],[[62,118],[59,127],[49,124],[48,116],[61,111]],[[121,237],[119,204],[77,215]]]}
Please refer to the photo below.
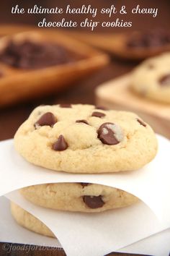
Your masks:
{"label": "large blurred orange-brown wooden bowl on the left, behind the stack", "polygon": [[4,64],[0,61],[0,106],[6,106],[17,101],[38,98],[42,95],[56,93],[58,90],[73,85],[73,82],[88,77],[97,69],[104,67],[109,62],[109,57],[100,51],[79,43],[58,30],[55,33],[48,33],[42,30],[12,34],[0,38],[0,51],[8,41],[20,42],[33,40],[39,43],[57,43],[72,55],[83,56],[68,64],[59,64],[43,69],[19,69]]}

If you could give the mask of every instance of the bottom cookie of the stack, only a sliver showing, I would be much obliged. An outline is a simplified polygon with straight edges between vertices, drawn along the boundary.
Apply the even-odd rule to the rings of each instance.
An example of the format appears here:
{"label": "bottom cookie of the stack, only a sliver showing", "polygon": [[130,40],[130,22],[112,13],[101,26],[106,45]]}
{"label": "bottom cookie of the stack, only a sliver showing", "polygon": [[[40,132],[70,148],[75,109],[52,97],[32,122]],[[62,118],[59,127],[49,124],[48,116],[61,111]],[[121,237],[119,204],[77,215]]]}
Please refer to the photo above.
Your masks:
{"label": "bottom cookie of the stack, only a sliver showing", "polygon": [[50,231],[44,223],[35,218],[32,214],[28,213],[26,210],[22,209],[19,205],[16,205],[14,202],[11,202],[11,212],[15,221],[17,221],[20,226],[44,236],[55,237],[52,231]]}

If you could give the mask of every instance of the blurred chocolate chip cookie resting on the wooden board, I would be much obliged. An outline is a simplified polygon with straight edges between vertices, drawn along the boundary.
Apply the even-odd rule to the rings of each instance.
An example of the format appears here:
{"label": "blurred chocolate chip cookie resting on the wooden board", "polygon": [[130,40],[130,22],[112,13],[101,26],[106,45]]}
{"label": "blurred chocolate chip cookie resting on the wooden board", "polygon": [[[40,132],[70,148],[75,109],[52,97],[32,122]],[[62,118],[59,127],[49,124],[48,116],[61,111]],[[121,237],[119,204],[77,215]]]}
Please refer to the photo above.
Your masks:
{"label": "blurred chocolate chip cookie resting on the wooden board", "polygon": [[170,103],[170,52],[148,59],[135,68],[130,85],[144,98]]}

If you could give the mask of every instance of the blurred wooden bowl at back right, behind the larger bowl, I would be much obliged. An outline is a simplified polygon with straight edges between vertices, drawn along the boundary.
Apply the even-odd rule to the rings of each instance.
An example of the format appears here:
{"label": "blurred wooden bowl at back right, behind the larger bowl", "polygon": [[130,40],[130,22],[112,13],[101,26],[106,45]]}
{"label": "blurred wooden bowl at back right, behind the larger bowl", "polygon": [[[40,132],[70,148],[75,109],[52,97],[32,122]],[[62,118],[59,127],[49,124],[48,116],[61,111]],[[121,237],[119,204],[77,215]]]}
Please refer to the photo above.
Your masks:
{"label": "blurred wooden bowl at back right, behind the larger bowl", "polygon": [[[75,30],[64,30],[66,35],[79,39],[84,43],[107,51],[121,59],[140,61],[170,51],[170,43],[153,48],[131,48],[127,46],[130,34],[128,33],[84,33]],[[63,31],[63,32],[64,32]]]}

